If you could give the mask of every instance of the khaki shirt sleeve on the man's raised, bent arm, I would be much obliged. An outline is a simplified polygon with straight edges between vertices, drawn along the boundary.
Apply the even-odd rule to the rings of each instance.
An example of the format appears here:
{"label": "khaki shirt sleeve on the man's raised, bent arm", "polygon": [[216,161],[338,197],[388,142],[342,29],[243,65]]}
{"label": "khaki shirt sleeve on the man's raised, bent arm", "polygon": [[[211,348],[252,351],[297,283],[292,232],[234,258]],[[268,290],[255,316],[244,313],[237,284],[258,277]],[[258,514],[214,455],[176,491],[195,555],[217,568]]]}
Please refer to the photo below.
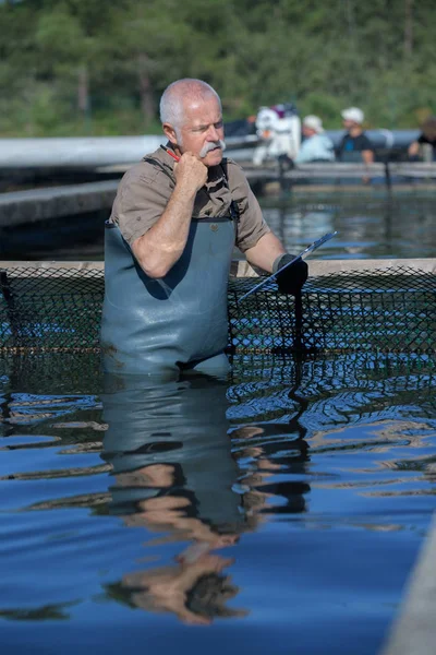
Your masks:
{"label": "khaki shirt sleeve on the man's raised, bent arm", "polygon": [[110,223],[118,225],[131,246],[160,218],[171,192],[171,180],[166,175],[147,163],[141,163],[121,180]]}

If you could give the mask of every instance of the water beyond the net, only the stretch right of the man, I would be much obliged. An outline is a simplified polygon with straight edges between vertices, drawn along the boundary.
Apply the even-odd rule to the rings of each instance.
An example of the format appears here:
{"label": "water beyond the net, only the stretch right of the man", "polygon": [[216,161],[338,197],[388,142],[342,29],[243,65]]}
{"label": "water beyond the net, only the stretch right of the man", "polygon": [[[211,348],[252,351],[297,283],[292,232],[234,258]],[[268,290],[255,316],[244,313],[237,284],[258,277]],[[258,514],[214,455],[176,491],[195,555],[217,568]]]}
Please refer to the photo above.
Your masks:
{"label": "water beyond the net, only the stretch right of the man", "polygon": [[317,259],[379,259],[434,257],[436,222],[434,192],[396,190],[392,195],[298,194],[264,200],[265,218],[286,242],[300,250],[324,234],[339,235],[314,253]]}

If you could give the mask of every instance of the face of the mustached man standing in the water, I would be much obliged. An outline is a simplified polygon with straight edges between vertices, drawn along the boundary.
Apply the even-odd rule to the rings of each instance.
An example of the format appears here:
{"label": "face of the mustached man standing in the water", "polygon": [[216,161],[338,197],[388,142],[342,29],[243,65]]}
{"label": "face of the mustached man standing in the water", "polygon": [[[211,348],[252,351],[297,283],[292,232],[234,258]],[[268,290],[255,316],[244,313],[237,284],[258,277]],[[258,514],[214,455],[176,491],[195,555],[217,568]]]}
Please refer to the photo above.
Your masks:
{"label": "face of the mustached man standing in the water", "polygon": [[184,118],[178,133],[182,153],[193,153],[205,166],[217,166],[221,162],[225,130],[221,109],[214,96],[185,102]]}

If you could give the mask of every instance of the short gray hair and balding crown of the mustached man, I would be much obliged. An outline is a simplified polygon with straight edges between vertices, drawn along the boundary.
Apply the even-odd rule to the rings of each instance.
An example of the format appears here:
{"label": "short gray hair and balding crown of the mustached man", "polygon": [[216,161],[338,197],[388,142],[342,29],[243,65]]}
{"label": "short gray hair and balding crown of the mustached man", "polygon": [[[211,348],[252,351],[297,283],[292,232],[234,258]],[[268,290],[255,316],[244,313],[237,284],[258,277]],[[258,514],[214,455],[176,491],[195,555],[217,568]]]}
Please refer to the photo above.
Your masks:
{"label": "short gray hair and balding crown of the mustached man", "polygon": [[172,82],[162,93],[159,105],[161,123],[170,123],[173,128],[181,127],[184,112],[183,100],[186,96],[193,100],[203,100],[214,96],[221,107],[219,95],[207,82],[184,78]]}

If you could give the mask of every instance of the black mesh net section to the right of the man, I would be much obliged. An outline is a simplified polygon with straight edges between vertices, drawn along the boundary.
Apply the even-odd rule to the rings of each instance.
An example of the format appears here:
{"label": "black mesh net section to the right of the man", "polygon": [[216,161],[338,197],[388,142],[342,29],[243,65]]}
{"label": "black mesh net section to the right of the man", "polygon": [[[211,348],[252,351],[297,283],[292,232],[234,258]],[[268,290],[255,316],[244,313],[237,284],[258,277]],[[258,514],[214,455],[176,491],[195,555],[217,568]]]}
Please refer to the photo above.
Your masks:
{"label": "black mesh net section to the right of the man", "polygon": [[434,353],[436,278],[404,266],[312,277],[301,307],[268,288],[238,297],[253,281],[230,284],[232,347],[287,353],[382,350]]}

